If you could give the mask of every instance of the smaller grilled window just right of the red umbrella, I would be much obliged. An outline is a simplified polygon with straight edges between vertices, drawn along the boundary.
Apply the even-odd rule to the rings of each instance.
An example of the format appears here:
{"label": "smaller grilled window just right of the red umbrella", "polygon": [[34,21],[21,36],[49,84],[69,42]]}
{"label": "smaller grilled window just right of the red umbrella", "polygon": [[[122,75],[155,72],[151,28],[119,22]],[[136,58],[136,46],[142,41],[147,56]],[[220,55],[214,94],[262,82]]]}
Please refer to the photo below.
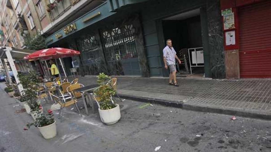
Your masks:
{"label": "smaller grilled window just right of the red umbrella", "polygon": [[95,36],[88,35],[79,39],[77,43],[83,64],[98,63],[101,60],[99,43]]}

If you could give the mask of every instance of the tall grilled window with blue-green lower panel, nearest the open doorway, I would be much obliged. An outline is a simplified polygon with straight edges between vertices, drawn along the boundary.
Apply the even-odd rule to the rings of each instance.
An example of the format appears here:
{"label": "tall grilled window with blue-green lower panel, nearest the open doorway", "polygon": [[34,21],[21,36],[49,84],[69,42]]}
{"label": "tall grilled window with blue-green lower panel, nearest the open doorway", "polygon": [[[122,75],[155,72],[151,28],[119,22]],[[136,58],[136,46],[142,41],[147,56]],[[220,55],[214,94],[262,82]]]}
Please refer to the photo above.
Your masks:
{"label": "tall grilled window with blue-green lower panel, nearest the open doorway", "polygon": [[135,29],[124,25],[102,33],[105,59],[113,75],[141,75],[137,60]]}

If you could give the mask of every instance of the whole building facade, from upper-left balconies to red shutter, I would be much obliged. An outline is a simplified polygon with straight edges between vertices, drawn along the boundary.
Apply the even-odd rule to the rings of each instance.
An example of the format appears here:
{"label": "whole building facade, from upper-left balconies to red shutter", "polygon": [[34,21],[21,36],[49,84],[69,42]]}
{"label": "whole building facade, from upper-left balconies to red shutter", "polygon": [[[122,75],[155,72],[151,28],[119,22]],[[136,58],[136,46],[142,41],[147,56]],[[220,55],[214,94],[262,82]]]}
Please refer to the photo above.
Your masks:
{"label": "whole building facade, from upper-left balconies to red shutter", "polygon": [[[185,59],[191,71],[204,73],[205,77],[271,77],[271,28],[260,22],[270,19],[268,0],[22,0],[17,6],[16,3],[16,0],[1,2],[1,13],[6,12],[1,15],[4,33],[1,37],[5,37],[2,44],[23,47],[19,33],[40,33],[46,37],[48,47],[81,52],[78,57],[63,59],[68,72],[78,67],[81,75],[105,72],[168,76],[162,50],[165,40],[172,39],[178,56]],[[14,13],[6,11],[9,9],[19,14],[13,27],[10,22]],[[2,18],[5,15],[10,16],[10,22]],[[259,21],[254,24],[248,17]],[[20,23],[17,30],[15,20]],[[181,68],[184,64],[178,70]]]}

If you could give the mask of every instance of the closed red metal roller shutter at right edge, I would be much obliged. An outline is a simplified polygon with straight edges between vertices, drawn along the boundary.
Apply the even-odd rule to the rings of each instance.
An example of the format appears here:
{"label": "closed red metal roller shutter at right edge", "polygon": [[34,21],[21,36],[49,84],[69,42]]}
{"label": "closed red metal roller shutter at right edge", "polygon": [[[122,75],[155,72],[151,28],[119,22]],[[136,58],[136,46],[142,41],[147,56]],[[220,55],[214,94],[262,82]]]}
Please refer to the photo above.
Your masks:
{"label": "closed red metal roller shutter at right edge", "polygon": [[271,78],[271,0],[239,8],[240,76]]}

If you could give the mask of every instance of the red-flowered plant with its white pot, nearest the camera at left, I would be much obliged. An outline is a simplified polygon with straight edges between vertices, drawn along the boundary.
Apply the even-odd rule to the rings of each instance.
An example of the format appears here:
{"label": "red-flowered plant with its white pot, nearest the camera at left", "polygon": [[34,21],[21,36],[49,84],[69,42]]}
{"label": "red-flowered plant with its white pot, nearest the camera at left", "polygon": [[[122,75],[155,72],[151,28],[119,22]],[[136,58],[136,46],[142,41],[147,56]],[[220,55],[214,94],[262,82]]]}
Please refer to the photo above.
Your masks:
{"label": "red-flowered plant with its white pot, nearest the camera at left", "polygon": [[28,123],[26,126],[30,128],[35,126],[39,129],[43,138],[50,139],[56,136],[56,121],[54,119],[53,111],[47,110],[48,114],[38,113],[34,123]]}

